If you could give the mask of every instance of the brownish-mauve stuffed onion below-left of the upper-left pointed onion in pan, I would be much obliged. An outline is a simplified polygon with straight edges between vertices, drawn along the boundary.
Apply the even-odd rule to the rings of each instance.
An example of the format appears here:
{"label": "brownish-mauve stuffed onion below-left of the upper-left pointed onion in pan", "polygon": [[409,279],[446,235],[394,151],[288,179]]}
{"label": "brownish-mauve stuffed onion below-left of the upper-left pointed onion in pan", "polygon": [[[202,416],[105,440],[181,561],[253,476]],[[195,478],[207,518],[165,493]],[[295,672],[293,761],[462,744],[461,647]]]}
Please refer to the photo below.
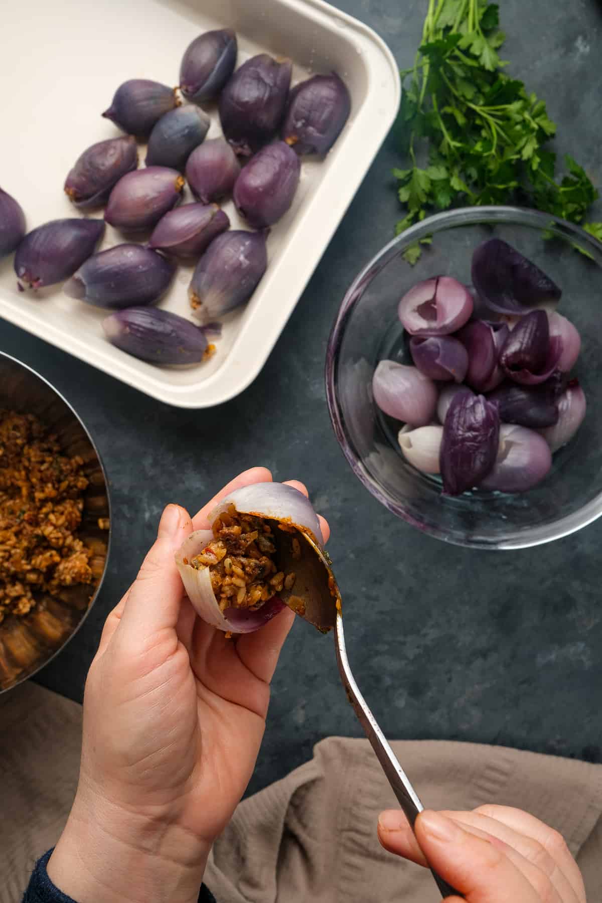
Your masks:
{"label": "brownish-mauve stuffed onion below-left of the upper-left pointed onion in pan", "polygon": [[131,135],[98,141],[80,154],[65,180],[65,194],[79,209],[102,207],[126,172],[138,165],[138,148]]}

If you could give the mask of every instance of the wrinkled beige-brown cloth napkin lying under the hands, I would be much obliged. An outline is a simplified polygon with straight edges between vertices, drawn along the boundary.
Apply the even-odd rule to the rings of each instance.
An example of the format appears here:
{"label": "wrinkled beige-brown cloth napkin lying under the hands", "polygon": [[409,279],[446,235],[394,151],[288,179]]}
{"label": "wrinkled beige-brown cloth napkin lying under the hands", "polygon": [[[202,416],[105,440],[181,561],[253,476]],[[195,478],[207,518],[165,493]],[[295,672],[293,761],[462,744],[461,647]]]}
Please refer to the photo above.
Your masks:
{"label": "wrinkled beige-brown cloth napkin lying under the hands", "polygon": [[[78,780],[81,707],[31,682],[0,696],[0,903],[21,903]],[[393,744],[424,805],[515,805],[557,828],[602,899],[602,766],[445,741]],[[334,737],[236,809],[205,881],[218,903],[436,903],[426,870],[376,840],[391,788],[366,740]]]}

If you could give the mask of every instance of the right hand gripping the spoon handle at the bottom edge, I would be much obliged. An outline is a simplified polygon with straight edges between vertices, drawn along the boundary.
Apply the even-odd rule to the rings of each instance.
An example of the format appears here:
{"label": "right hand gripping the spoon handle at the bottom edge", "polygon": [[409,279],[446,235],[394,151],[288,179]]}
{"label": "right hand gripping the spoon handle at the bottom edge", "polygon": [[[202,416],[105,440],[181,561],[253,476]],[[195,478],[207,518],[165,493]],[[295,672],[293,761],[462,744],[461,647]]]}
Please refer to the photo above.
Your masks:
{"label": "right hand gripping the spoon handle at the bottom edge", "polygon": [[403,813],[391,809],[381,813],[378,839],[385,850],[430,865],[468,903],[586,903],[579,866],[561,834],[520,809],[429,810],[418,816],[415,835]]}

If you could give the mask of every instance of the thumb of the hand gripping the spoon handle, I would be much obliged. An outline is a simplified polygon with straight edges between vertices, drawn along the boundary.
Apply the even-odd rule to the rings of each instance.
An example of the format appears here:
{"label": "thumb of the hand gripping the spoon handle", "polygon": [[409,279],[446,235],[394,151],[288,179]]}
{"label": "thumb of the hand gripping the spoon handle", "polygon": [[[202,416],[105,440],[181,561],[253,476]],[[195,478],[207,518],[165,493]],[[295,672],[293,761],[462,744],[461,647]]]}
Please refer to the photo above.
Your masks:
{"label": "thumb of the hand gripping the spoon handle", "polygon": [[[418,816],[416,839],[437,871],[468,903],[541,903],[533,885],[494,842],[468,833],[445,815]],[[448,897],[446,903],[461,903]]]}

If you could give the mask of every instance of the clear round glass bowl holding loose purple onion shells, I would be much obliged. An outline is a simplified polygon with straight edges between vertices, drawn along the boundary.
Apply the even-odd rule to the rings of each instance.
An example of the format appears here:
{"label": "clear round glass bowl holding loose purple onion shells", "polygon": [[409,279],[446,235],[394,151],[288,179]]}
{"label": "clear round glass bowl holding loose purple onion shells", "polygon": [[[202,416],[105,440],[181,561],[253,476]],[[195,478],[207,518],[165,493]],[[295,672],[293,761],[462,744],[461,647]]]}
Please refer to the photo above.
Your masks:
{"label": "clear round glass bowl holding loose purple onion shells", "polygon": [[[376,407],[372,377],[383,358],[408,358],[397,303],[413,284],[452,275],[470,284],[470,262],[488,237],[504,238],[560,285],[559,310],[582,339],[574,375],[588,400],[579,432],[553,456],[548,476],[523,494],[476,490],[441,496],[438,477],[415,470],[397,445],[401,424]],[[417,241],[415,265],[403,253]],[[579,253],[582,251],[584,253]],[[456,545],[517,549],[550,542],[602,514],[602,244],[535,210],[477,207],[425,219],[389,242],[351,284],[329,338],[326,391],[338,442],[366,489],[397,517]]]}

